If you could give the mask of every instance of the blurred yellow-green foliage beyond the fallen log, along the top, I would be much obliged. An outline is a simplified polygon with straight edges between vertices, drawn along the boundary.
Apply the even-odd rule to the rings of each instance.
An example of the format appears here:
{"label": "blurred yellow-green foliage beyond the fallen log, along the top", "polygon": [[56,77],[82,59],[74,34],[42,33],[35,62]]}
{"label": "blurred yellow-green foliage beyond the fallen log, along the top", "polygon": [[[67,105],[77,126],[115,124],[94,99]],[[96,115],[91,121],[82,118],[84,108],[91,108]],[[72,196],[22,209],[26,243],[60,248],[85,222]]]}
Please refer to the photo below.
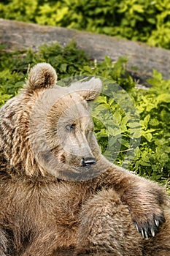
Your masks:
{"label": "blurred yellow-green foliage beyond the fallen log, along the top", "polygon": [[169,0],[1,1],[0,17],[84,29],[170,48]]}

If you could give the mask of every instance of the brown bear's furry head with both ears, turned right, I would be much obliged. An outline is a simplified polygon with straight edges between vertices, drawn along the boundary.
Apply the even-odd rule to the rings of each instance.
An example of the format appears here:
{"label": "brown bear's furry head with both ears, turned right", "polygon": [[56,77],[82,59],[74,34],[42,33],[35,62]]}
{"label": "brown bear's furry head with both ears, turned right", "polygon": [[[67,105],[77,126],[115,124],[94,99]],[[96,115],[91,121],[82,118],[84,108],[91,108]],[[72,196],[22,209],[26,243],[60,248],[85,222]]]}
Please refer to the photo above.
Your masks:
{"label": "brown bear's furry head with both ears, turned right", "polygon": [[107,161],[98,147],[88,104],[100,94],[101,80],[86,78],[69,87],[57,86],[56,81],[50,64],[36,64],[23,91],[1,108],[1,118],[8,118],[12,127],[12,133],[1,129],[8,137],[4,158],[10,170],[28,176],[93,178],[106,169]]}

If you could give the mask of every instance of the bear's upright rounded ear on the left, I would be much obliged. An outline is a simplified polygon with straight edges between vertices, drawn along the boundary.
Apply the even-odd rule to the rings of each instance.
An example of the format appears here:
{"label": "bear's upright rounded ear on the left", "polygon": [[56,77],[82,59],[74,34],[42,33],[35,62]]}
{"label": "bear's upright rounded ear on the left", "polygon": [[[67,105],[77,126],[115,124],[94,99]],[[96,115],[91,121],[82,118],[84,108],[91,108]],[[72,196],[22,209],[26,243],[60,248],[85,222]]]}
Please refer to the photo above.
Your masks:
{"label": "bear's upright rounded ear on the left", "polygon": [[55,69],[45,62],[36,64],[28,75],[26,89],[52,88],[57,81]]}

